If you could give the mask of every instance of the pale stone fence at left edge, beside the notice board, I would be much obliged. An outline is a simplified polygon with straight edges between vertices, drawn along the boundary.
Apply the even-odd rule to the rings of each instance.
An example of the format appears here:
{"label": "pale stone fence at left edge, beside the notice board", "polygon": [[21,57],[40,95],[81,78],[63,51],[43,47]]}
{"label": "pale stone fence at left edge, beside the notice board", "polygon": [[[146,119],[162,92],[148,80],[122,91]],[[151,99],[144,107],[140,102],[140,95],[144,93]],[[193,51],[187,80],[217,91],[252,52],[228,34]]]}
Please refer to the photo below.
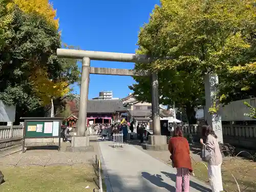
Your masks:
{"label": "pale stone fence at left edge, beside the notice board", "polygon": [[0,126],[0,151],[21,144],[22,140],[23,125]]}

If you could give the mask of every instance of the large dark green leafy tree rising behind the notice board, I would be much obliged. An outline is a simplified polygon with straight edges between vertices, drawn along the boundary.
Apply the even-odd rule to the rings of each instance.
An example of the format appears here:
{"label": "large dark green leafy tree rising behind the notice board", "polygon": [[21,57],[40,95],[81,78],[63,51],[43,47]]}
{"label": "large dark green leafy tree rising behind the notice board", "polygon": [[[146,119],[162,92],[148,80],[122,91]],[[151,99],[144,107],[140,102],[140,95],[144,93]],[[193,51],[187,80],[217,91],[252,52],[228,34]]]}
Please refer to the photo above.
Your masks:
{"label": "large dark green leafy tree rising behind the notice board", "polygon": [[57,58],[56,49],[61,42],[54,25],[35,12],[24,13],[17,7],[11,11],[7,31],[10,35],[1,48],[0,99],[16,105],[18,121],[20,116],[45,112],[42,98],[31,81],[38,68],[45,70],[49,80],[64,80],[67,86],[77,81],[79,71],[74,60]]}

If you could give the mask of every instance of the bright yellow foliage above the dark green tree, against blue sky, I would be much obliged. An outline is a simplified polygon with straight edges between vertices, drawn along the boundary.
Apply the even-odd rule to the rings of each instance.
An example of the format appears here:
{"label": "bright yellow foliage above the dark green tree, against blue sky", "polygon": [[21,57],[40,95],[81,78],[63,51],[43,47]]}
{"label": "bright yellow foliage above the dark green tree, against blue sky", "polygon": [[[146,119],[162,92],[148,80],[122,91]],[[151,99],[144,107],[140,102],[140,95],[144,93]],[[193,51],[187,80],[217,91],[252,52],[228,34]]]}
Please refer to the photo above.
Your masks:
{"label": "bright yellow foliage above the dark green tree, against blue sky", "polygon": [[59,27],[59,19],[56,19],[56,10],[48,0],[12,0],[8,7],[17,5],[25,13],[37,12],[44,16],[56,29]]}

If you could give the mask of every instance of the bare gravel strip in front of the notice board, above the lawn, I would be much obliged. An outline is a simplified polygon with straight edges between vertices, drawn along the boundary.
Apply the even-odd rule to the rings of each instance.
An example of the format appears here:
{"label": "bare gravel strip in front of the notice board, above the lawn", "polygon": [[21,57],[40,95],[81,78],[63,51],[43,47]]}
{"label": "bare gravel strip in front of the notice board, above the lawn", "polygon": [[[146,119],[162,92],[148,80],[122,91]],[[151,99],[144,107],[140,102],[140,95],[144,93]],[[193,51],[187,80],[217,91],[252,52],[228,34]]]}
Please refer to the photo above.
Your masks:
{"label": "bare gravel strip in front of the notice board, above the lawn", "polygon": [[56,148],[48,147],[27,150],[24,154],[21,152],[8,155],[0,158],[0,167],[3,166],[52,166],[52,165],[76,165],[83,163],[93,163],[95,155],[99,155],[98,143],[96,141],[90,142],[94,147],[94,152],[87,153],[71,153],[66,152],[65,149],[71,143],[61,143],[61,151],[58,152]]}

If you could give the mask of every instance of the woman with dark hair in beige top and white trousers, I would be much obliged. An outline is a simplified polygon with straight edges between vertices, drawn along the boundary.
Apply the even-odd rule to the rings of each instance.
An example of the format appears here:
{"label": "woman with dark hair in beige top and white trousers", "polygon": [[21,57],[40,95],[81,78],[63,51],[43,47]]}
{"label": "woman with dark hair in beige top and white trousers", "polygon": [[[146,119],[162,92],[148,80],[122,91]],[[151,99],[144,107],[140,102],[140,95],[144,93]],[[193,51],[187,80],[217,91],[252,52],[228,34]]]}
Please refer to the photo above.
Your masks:
{"label": "woman with dark hair in beige top and white trousers", "polygon": [[211,190],[212,192],[220,192],[223,190],[221,176],[222,155],[217,141],[218,137],[210,125],[202,126],[202,135],[206,137],[206,143],[204,143],[203,139],[200,139],[200,143],[203,145],[203,150],[207,150],[210,154],[207,164]]}

